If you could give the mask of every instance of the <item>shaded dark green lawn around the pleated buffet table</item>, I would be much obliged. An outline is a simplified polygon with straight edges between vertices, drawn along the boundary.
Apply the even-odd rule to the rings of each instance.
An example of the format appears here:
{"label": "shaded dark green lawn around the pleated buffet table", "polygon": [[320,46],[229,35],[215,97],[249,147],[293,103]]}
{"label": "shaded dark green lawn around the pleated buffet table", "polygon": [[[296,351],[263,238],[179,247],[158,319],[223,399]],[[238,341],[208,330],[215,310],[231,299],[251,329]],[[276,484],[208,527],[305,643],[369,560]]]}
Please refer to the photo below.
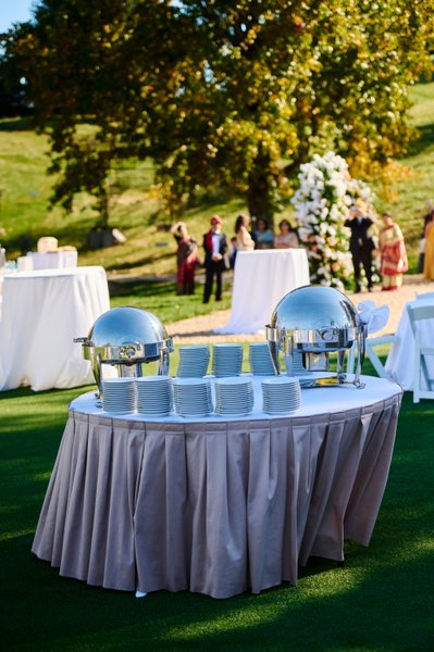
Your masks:
{"label": "shaded dark green lawn around the pleated buffet table", "polygon": [[[173,360],[176,365],[176,356]],[[364,373],[370,373],[369,361]],[[89,388],[1,394],[1,632],[8,650],[413,652],[434,649],[433,403],[406,393],[369,548],[300,568],[298,587],[218,601],[160,591],[137,600],[59,577],[30,553],[66,422]],[[356,390],[355,390],[356,391]]]}

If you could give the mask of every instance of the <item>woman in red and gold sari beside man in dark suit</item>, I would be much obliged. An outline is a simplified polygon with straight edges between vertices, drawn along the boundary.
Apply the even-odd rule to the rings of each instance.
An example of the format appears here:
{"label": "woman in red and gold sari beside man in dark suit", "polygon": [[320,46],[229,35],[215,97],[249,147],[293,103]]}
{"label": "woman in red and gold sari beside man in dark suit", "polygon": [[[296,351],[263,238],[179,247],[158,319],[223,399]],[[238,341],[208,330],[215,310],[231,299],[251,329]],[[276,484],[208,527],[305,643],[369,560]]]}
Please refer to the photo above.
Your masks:
{"label": "woman in red and gold sari beside man in dark suit", "polygon": [[383,290],[397,290],[402,285],[402,274],[408,269],[402,231],[390,213],[383,213],[383,227],[379,236]]}

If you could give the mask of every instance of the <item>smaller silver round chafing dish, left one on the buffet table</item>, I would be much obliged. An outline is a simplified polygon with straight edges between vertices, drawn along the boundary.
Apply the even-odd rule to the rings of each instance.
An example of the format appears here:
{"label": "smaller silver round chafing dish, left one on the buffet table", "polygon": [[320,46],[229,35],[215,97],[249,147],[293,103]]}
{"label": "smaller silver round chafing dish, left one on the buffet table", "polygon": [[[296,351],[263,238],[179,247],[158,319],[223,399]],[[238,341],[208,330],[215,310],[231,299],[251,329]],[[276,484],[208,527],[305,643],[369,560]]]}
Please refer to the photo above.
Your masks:
{"label": "smaller silver round chafing dish, left one on the buffet table", "polygon": [[103,313],[87,337],[74,339],[91,364],[102,396],[102,365],[116,366],[120,376],[141,376],[144,363],[157,362],[158,374],[169,374],[173,340],[156,315],[139,308],[121,306]]}

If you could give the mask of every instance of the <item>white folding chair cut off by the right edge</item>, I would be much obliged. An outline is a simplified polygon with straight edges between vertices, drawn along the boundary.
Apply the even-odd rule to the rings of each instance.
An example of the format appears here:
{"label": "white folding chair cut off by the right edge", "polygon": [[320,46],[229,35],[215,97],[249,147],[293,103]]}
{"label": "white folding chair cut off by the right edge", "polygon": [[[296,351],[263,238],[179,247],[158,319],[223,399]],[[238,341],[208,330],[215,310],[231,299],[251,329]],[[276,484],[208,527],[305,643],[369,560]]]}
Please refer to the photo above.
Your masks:
{"label": "white folding chair cut off by the right edge", "polygon": [[[434,355],[434,326],[430,329],[431,346],[424,344],[421,324],[426,319],[432,319],[434,324],[434,304],[433,305],[407,305],[407,312],[410,321],[411,330],[414,336],[414,361],[413,361],[413,403],[419,403],[420,399],[434,399],[434,377],[430,376],[426,365],[426,355]],[[426,389],[422,389],[422,379]]]}

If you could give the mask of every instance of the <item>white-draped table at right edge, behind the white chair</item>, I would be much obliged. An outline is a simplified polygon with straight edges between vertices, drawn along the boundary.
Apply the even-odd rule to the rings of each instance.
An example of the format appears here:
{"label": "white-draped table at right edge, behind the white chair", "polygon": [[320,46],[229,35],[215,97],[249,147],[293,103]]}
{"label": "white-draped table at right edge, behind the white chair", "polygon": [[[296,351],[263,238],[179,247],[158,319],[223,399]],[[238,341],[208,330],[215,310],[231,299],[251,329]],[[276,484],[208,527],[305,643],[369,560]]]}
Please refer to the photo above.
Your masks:
{"label": "white-draped table at right edge, behind the white chair", "polygon": [[[413,375],[414,375],[414,354],[416,343],[414,336],[411,329],[410,319],[407,312],[407,305],[433,305],[433,299],[418,299],[416,301],[408,301],[402,310],[401,317],[399,319],[398,328],[396,329],[397,341],[392,344],[389,354],[386,360],[384,368],[402,389],[412,391],[413,389]],[[427,319],[421,322],[418,326],[421,331],[422,342],[425,344],[433,346],[434,343],[434,319]],[[431,356],[426,358],[426,365],[430,373],[434,372],[434,364]],[[422,379],[422,387],[426,384]]]}

